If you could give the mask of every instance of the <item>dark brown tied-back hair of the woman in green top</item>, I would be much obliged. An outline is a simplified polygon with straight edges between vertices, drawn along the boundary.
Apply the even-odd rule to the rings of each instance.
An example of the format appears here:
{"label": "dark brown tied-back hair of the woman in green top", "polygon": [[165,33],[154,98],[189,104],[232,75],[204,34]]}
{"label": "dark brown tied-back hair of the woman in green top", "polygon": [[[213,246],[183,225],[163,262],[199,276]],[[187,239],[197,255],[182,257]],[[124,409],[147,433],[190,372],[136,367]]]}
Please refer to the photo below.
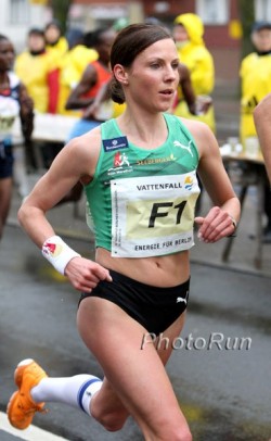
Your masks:
{"label": "dark brown tied-back hair of the woman in green top", "polygon": [[[131,66],[134,59],[149,46],[156,41],[171,38],[169,32],[158,25],[138,23],[125,27],[116,37],[111,50],[111,67],[121,64],[124,67]],[[125,93],[120,83],[113,78],[111,83],[113,101],[118,104],[125,102]]]}

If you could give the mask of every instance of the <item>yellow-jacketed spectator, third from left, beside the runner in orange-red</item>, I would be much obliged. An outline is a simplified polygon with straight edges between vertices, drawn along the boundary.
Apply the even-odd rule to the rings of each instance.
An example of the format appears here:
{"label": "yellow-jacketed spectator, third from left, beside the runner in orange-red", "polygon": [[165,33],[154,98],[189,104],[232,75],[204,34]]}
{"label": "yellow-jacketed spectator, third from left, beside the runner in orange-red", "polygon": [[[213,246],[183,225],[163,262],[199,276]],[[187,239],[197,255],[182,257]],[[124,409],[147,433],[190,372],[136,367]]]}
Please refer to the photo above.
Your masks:
{"label": "yellow-jacketed spectator, third from left, beside the runner in orange-red", "polygon": [[59,63],[59,102],[57,113],[63,115],[78,115],[81,112],[66,110],[66,102],[72,90],[78,85],[87,65],[98,59],[98,52],[85,45],[82,30],[72,28],[67,32],[68,51],[60,59]]}

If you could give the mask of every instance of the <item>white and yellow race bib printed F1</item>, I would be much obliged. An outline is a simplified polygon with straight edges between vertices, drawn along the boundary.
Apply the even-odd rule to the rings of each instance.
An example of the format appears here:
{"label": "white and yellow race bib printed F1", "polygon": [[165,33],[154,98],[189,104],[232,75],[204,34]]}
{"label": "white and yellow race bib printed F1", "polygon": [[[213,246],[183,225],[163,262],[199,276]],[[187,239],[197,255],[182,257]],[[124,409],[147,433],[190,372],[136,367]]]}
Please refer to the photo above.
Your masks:
{"label": "white and yellow race bib printed F1", "polygon": [[111,181],[112,255],[150,257],[194,244],[196,173]]}

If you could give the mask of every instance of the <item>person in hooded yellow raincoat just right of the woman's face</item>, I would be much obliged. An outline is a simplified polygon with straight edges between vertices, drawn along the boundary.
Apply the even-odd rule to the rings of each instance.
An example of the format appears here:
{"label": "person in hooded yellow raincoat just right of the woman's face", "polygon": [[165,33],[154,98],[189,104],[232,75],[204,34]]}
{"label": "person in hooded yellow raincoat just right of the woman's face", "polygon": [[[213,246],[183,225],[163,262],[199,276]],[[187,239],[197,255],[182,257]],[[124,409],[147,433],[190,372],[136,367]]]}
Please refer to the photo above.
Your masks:
{"label": "person in hooded yellow raincoat just right of the woman's face", "polygon": [[180,61],[190,70],[192,86],[198,101],[208,101],[209,104],[206,113],[201,112],[201,114],[193,115],[188,109],[179,87],[179,100],[175,114],[203,121],[216,133],[214,105],[209,97],[215,86],[215,65],[212,55],[203,39],[204,25],[202,20],[193,13],[178,15],[173,23],[172,36]]}

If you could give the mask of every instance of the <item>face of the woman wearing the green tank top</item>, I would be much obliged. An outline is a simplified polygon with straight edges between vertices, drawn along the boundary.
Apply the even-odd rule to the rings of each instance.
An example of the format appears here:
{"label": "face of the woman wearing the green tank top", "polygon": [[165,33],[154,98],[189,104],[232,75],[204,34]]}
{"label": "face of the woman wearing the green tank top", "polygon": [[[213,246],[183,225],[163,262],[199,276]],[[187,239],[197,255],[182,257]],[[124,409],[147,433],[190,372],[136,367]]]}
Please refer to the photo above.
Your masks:
{"label": "face of the woman wearing the green tank top", "polygon": [[128,70],[128,94],[152,112],[167,111],[179,84],[178,65],[173,40],[156,41],[142,51]]}

